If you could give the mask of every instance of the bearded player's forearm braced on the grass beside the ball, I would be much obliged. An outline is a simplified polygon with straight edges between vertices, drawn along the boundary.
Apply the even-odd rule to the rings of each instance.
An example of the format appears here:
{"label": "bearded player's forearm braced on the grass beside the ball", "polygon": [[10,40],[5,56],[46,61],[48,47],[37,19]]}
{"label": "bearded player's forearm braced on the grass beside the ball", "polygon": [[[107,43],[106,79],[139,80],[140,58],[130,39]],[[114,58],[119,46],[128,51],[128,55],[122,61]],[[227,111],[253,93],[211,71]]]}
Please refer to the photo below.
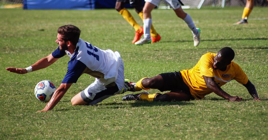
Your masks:
{"label": "bearded player's forearm braced on the grass beside the ball", "polygon": [[59,103],[60,99],[64,96],[64,94],[67,92],[67,90],[71,87],[72,84],[73,83],[61,83],[60,87],[57,88],[52,98],[46,104],[46,107],[38,112],[46,112],[53,109],[54,106],[56,106]]}

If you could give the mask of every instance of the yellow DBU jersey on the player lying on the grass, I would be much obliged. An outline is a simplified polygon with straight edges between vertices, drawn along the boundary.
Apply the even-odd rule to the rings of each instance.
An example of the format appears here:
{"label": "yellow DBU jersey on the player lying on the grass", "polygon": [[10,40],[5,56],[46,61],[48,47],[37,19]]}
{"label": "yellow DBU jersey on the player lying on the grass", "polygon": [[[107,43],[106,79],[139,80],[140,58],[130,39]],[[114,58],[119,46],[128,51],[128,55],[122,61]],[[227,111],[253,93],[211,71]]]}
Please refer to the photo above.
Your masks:
{"label": "yellow DBU jersey on the player lying on the grass", "polygon": [[248,78],[241,67],[233,61],[227,66],[225,71],[213,69],[213,61],[216,53],[206,53],[192,69],[180,71],[183,81],[189,87],[191,95],[196,99],[202,99],[205,95],[212,93],[206,86],[203,76],[214,77],[214,81],[219,85],[225,85],[231,80],[236,80],[241,84],[247,84]]}

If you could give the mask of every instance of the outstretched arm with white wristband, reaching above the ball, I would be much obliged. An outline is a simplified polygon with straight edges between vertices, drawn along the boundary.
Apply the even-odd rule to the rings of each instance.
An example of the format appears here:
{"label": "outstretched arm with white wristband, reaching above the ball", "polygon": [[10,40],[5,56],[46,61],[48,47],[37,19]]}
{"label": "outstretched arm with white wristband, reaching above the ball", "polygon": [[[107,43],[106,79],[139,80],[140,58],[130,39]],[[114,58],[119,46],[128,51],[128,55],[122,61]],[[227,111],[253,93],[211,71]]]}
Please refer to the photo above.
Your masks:
{"label": "outstretched arm with white wristband, reaching above the ball", "polygon": [[26,74],[28,72],[31,72],[31,71],[37,71],[39,69],[43,69],[43,68],[46,68],[48,66],[50,66],[51,64],[53,64],[54,62],[56,62],[59,58],[54,58],[52,56],[52,54],[38,60],[37,62],[35,62],[31,67],[31,70],[29,71],[29,67],[28,67],[28,70],[27,68],[23,69],[23,68],[14,68],[14,67],[8,67],[6,68],[7,71],[9,72],[14,72],[14,73],[17,73],[17,74]]}

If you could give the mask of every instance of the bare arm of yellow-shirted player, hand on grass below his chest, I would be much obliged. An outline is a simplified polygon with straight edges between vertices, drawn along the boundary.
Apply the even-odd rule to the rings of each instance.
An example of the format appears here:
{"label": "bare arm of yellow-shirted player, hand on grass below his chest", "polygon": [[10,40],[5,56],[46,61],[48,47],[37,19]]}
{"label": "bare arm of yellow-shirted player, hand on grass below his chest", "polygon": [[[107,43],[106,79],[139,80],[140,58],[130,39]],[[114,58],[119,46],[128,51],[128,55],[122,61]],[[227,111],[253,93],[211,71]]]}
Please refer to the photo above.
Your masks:
{"label": "bare arm of yellow-shirted player, hand on grass below his chest", "polygon": [[230,96],[228,93],[223,91],[222,88],[220,88],[219,85],[214,81],[214,77],[206,77],[206,76],[203,76],[203,77],[204,77],[206,86],[218,96],[225,98],[228,101],[241,101],[242,100],[242,97]]}

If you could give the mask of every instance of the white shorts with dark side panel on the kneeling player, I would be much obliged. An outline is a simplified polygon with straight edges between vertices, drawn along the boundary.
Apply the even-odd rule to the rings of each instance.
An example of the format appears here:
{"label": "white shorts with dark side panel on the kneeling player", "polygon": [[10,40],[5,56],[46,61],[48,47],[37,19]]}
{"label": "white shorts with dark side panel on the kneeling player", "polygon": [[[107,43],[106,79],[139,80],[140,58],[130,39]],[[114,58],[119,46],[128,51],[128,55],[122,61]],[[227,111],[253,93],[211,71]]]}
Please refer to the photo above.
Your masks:
{"label": "white shorts with dark side panel on the kneeling player", "polygon": [[[104,81],[109,81],[105,83]],[[109,84],[115,82],[116,85],[110,87]],[[115,81],[95,79],[85,90],[81,91],[81,98],[88,102],[89,105],[97,104],[104,99],[119,94],[124,86],[124,63],[121,61],[121,65],[118,69],[118,76]],[[108,85],[108,86],[106,86]]]}

